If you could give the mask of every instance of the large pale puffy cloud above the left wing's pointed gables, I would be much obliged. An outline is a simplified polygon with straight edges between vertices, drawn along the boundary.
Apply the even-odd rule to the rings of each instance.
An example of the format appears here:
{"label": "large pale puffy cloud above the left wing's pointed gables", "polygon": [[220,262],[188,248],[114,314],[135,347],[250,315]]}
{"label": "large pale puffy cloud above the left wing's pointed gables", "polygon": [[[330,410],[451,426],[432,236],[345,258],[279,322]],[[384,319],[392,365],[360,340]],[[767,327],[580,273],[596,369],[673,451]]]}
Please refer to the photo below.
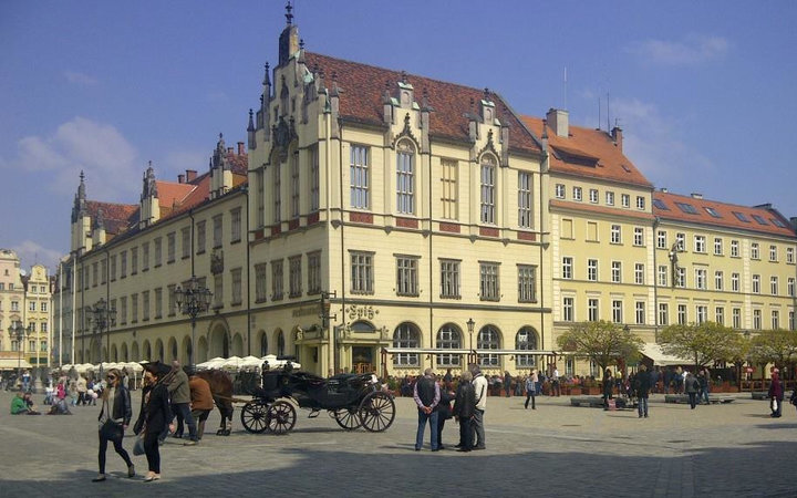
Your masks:
{"label": "large pale puffy cloud above the left wing's pointed gables", "polygon": [[58,194],[73,194],[84,170],[90,198],[118,201],[137,191],[144,169],[135,147],[113,125],[85,117],[60,125],[50,136],[21,138],[17,156],[0,168],[15,175],[44,172],[45,186]]}

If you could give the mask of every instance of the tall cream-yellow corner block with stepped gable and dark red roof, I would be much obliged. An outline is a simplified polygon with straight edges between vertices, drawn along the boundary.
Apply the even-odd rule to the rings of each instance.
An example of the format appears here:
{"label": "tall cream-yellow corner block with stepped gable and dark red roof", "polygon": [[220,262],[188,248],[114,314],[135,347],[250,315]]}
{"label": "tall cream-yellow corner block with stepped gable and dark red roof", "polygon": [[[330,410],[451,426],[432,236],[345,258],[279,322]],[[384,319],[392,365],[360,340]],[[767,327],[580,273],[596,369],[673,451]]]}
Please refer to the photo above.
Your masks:
{"label": "tall cream-yellow corner block with stepped gable and dark red roof", "polygon": [[486,350],[550,347],[541,143],[495,92],[307,52],[289,23],[249,149],[261,352],[403,375],[465,357],[382,347],[494,373],[534,359]]}

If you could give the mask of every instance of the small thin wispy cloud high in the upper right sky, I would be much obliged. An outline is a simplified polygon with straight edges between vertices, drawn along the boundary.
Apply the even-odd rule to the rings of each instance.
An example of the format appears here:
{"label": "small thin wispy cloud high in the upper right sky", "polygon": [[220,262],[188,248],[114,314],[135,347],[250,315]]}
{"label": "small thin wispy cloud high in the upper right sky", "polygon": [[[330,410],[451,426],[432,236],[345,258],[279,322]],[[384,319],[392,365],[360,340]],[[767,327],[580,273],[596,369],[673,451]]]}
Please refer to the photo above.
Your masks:
{"label": "small thin wispy cloud high in the upper right sky", "polygon": [[692,65],[723,56],[729,42],[722,37],[690,34],[681,41],[644,40],[628,48],[643,62],[660,65]]}

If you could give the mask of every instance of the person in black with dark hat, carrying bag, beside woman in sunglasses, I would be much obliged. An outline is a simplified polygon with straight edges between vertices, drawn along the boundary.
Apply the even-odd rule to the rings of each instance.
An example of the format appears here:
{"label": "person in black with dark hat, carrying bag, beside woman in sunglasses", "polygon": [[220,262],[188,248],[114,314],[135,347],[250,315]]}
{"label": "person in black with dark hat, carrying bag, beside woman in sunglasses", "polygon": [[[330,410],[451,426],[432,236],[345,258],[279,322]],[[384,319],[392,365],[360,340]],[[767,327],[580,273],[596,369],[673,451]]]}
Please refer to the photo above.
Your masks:
{"label": "person in black with dark hat, carrying bag, beside woman in sunglasses", "polygon": [[166,373],[167,367],[163,363],[155,362],[144,365],[144,382],[147,387],[142,394],[142,408],[136,428],[144,434],[144,453],[148,465],[145,483],[161,479],[158,438],[163,429],[168,427],[168,421],[172,419],[168,390],[162,382]]}

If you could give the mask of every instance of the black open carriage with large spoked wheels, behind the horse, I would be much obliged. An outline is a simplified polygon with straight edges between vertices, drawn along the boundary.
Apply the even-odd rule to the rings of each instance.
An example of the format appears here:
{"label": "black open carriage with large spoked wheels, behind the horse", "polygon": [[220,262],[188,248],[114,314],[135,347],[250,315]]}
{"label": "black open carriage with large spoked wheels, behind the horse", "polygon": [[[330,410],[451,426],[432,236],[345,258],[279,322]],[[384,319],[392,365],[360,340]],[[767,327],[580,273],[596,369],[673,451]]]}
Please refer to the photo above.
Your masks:
{"label": "black open carriage with large spoked wheels, behind the horse", "polygon": [[290,364],[265,371],[262,387],[241,409],[241,424],[250,433],[284,434],[297,419],[294,404],[310,411],[314,418],[325,409],[346,430],[360,426],[382,432],[393,424],[395,403],[380,388],[374,374],[340,374],[330,378],[293,371]]}

